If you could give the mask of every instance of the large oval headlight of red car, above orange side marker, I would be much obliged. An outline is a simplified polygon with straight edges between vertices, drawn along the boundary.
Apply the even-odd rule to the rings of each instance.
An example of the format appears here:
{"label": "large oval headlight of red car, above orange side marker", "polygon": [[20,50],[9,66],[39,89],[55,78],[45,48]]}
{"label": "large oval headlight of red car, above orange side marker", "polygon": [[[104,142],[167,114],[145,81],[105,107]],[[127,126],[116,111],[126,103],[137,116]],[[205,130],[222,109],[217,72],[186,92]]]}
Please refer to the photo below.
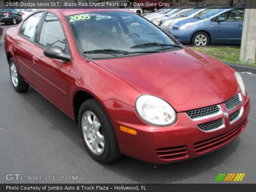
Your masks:
{"label": "large oval headlight of red car, above orange side marker", "polygon": [[135,108],[143,121],[154,126],[168,126],[176,120],[176,112],[172,106],[156,96],[139,96]]}

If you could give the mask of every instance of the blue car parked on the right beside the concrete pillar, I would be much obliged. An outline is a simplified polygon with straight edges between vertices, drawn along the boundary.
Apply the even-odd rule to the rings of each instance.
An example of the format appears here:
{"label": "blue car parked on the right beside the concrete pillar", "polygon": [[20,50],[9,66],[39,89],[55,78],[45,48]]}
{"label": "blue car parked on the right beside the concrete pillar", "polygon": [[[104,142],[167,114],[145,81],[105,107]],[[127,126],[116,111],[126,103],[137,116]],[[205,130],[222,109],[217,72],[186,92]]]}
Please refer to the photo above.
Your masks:
{"label": "blue car parked on the right beside the concrete pillar", "polygon": [[174,23],[169,34],[179,42],[196,46],[209,44],[240,44],[244,7],[214,9]]}

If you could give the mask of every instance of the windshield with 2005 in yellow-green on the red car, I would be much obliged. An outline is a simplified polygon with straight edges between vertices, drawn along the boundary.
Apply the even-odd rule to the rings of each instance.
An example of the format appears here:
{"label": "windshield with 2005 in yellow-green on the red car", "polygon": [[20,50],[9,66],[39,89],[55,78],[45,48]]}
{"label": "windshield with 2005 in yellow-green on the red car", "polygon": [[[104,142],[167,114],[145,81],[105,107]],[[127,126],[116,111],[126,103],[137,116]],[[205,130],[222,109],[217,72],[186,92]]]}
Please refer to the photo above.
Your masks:
{"label": "windshield with 2005 in yellow-green on the red car", "polygon": [[180,46],[170,36],[137,14],[93,12],[67,16],[67,20],[76,45],[84,53],[110,49],[122,53],[148,52],[171,48],[160,44]]}

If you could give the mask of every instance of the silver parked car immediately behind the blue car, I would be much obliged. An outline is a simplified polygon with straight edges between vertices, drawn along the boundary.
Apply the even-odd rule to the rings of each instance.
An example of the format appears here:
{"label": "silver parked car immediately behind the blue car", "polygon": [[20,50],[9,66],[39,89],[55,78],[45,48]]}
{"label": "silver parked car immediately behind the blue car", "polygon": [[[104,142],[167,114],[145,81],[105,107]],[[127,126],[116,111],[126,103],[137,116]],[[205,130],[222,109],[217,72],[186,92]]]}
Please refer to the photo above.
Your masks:
{"label": "silver parked car immediately behind the blue car", "polygon": [[180,14],[178,14],[177,16],[174,17],[167,17],[167,18],[163,18],[158,22],[158,26],[164,30],[165,32],[169,32],[170,31],[170,26],[172,26],[174,23],[181,21],[181,20],[185,20],[187,18],[192,18],[197,14],[200,13],[204,13],[204,12],[208,12],[211,9],[199,9],[199,8],[195,8],[195,9],[189,9],[185,12],[182,12]]}

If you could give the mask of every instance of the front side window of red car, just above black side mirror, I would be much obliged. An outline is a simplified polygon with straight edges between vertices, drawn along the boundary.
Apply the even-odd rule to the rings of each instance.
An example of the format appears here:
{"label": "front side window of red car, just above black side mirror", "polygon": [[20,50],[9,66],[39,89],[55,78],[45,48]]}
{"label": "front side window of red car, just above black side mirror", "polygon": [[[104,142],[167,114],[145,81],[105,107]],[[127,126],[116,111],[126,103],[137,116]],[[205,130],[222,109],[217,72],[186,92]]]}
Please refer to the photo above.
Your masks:
{"label": "front side window of red car, just above black side mirror", "polygon": [[66,37],[55,15],[47,13],[38,43],[44,47],[56,45],[62,48],[62,50],[65,50]]}

